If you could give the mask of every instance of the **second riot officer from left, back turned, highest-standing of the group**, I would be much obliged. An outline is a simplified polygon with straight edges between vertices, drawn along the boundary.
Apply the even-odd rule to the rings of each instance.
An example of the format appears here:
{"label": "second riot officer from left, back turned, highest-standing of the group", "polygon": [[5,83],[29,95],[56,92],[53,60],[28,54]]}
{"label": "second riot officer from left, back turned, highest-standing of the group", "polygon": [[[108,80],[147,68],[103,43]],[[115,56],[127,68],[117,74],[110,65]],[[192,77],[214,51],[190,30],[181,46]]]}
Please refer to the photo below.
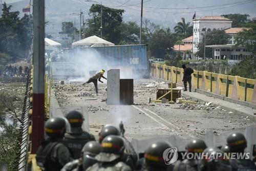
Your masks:
{"label": "second riot officer from left, back turned, highest-standing of the group", "polygon": [[95,141],[93,135],[82,130],[83,116],[78,111],[70,111],[66,118],[68,119],[71,130],[66,132],[63,143],[69,148],[73,159],[81,156],[81,149],[89,141]]}

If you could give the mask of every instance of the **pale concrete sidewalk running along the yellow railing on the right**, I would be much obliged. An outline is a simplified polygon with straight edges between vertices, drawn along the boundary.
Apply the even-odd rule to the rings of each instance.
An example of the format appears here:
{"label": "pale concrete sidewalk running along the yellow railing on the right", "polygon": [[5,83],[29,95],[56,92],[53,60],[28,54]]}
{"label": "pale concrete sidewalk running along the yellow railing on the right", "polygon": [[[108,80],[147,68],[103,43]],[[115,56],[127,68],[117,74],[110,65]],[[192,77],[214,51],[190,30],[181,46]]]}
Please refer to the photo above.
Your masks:
{"label": "pale concrete sidewalk running along the yellow railing on the right", "polygon": [[189,91],[184,92],[182,90],[181,93],[183,95],[196,98],[200,101],[212,102],[212,104],[216,106],[221,106],[222,109],[225,109],[228,112],[233,112],[234,114],[243,115],[244,117],[248,116],[250,119],[253,119],[254,121],[256,121],[256,110],[253,108],[249,108],[241,104],[232,103],[229,101],[225,101],[225,100],[213,97],[211,95],[205,95],[198,92],[189,92]]}

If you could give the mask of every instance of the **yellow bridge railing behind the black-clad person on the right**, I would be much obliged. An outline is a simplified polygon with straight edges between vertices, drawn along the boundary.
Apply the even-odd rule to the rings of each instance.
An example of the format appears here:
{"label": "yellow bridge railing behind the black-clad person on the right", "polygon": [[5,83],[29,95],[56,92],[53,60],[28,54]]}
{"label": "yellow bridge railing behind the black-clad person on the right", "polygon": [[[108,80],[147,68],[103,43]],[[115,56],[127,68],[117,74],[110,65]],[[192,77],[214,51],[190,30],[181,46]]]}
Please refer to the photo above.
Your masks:
{"label": "yellow bridge railing behind the black-clad person on the right", "polygon": [[[170,82],[183,84],[184,71],[182,68],[152,63],[151,76]],[[192,87],[228,97],[256,104],[256,80],[217,74],[208,71],[196,71],[191,74]]]}

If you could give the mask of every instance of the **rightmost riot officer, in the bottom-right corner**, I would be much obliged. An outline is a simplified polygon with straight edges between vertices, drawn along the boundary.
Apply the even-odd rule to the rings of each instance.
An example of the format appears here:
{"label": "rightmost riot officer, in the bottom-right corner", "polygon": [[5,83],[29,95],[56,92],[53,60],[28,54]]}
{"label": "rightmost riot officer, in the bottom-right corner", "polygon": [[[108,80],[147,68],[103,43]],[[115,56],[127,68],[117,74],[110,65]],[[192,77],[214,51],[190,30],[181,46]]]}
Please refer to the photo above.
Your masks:
{"label": "rightmost riot officer, in the bottom-right corner", "polygon": [[[247,141],[243,134],[232,133],[227,137],[227,145],[230,149],[230,153],[241,155],[241,153],[244,153],[244,149],[247,147]],[[254,162],[250,159],[237,158],[230,159],[229,162],[233,170],[256,170]]]}

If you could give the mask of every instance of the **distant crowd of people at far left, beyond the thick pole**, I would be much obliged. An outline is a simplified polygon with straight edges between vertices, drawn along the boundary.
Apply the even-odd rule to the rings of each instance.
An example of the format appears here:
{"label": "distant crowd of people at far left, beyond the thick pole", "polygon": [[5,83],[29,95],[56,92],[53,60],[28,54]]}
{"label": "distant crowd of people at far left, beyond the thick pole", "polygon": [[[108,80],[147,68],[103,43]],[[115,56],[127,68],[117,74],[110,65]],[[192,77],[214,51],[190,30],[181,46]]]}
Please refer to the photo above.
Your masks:
{"label": "distant crowd of people at far left, beyond the thick pole", "polygon": [[6,66],[4,71],[0,70],[1,77],[25,77],[29,72],[29,67]]}

